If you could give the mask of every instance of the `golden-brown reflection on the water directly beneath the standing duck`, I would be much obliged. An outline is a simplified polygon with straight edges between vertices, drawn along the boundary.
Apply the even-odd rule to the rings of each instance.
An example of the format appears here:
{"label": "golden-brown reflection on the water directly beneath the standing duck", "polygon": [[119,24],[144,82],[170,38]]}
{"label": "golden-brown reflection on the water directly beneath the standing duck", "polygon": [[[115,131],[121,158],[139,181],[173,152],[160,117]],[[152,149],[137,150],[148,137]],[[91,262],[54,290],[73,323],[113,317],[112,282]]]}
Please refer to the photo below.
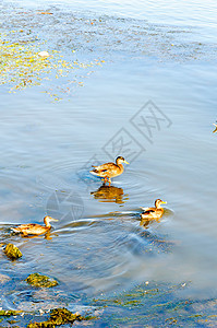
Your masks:
{"label": "golden-brown reflection on the water directly beneath the standing duck", "polygon": [[[124,203],[126,198],[123,199],[123,189],[114,186],[100,186],[96,191],[92,191],[91,195],[100,202],[117,202]],[[126,196],[126,195],[125,195]]]}

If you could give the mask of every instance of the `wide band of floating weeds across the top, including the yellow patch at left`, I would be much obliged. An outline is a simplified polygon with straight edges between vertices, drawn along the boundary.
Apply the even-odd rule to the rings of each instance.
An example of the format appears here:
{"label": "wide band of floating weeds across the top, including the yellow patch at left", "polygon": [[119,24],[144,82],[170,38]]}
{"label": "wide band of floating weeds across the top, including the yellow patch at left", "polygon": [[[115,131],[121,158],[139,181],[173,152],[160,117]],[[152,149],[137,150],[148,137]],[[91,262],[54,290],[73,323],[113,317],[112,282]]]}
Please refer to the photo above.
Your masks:
{"label": "wide band of floating weeds across the top, including the yellow patch at left", "polygon": [[[0,85],[9,85],[11,92],[41,85],[55,101],[83,86],[105,58],[113,61],[128,54],[133,59],[148,56],[160,61],[207,60],[215,59],[217,51],[215,44],[197,39],[193,28],[142,20],[92,17],[55,8],[52,12],[23,11],[14,7],[2,10],[0,21]],[[61,82],[56,83],[60,78]]]}

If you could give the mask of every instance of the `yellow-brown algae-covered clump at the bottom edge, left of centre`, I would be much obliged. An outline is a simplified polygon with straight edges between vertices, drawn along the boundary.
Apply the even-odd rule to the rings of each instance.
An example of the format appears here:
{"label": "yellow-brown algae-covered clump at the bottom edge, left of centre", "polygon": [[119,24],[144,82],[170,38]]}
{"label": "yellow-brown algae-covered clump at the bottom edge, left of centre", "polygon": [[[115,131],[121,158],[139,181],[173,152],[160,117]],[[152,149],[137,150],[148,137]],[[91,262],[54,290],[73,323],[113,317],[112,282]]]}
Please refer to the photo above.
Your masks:
{"label": "yellow-brown algae-covered clump at the bottom edge, left of centre", "polygon": [[[75,320],[86,320],[87,318],[82,317],[79,313],[71,313],[67,308],[55,308],[51,311],[50,317],[47,321],[43,323],[31,323],[27,328],[55,328],[64,324],[73,324]],[[88,318],[89,319],[89,318]]]}

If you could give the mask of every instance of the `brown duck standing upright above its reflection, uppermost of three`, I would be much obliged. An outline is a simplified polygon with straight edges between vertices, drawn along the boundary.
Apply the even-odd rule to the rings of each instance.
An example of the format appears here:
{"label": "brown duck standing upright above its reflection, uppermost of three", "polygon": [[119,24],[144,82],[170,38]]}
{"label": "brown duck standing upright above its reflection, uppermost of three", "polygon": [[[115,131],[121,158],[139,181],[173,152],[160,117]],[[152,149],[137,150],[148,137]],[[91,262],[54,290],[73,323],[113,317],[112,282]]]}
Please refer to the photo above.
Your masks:
{"label": "brown duck standing upright above its reflection, uppermost of three", "polygon": [[104,184],[109,181],[109,187],[111,185],[111,178],[121,175],[124,171],[122,163],[129,164],[122,156],[116,159],[116,163],[105,163],[103,165],[94,166],[92,174],[103,178]]}

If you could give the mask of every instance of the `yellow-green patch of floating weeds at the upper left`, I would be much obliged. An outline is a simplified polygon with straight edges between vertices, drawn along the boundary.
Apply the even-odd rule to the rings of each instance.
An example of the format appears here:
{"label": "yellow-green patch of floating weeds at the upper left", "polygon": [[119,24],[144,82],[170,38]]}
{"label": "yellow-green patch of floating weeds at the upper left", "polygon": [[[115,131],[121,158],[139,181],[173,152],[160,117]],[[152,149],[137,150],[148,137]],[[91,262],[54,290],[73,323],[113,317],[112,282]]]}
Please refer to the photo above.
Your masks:
{"label": "yellow-green patch of floating weeds at the upper left", "polygon": [[[0,85],[9,85],[9,92],[43,85],[47,94],[59,101],[61,98],[58,93],[70,93],[71,84],[83,86],[83,82],[76,79],[77,70],[89,69],[104,62],[97,59],[91,62],[80,62],[72,58],[65,60],[64,56],[55,49],[49,52],[40,51],[46,47],[46,42],[33,39],[22,42],[23,33],[23,30],[0,33]],[[13,42],[14,38],[17,40]],[[60,78],[68,78],[61,89],[58,85],[52,85],[50,90],[47,87],[48,81],[51,84],[53,80]]]}

